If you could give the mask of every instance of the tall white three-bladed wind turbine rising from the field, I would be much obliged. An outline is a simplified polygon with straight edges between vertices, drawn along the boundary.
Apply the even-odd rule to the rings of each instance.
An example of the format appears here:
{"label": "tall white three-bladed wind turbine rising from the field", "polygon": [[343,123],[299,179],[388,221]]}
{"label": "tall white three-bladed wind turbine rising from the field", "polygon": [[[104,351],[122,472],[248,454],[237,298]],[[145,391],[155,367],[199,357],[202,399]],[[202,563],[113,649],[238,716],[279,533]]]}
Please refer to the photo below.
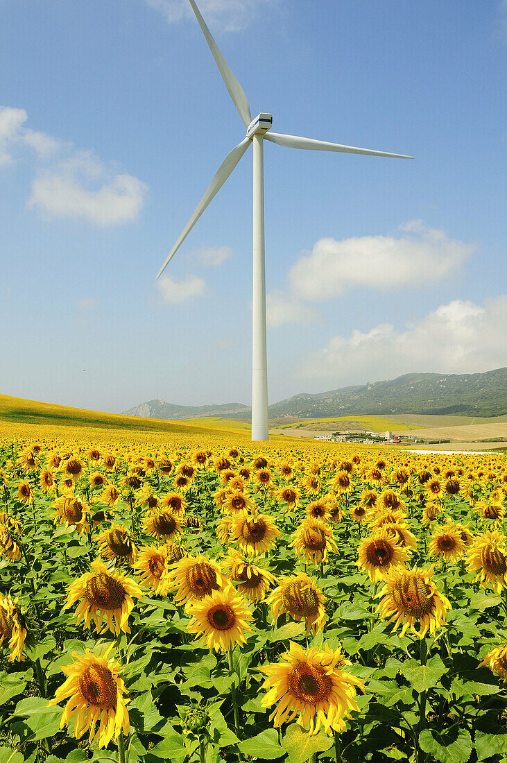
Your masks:
{"label": "tall white three-bladed wind turbine rising from the field", "polygon": [[189,0],[199,26],[210,46],[213,58],[217,63],[223,82],[229,91],[233,104],[239,111],[239,116],[245,123],[246,137],[227,154],[220,167],[217,169],[213,180],[208,185],[206,192],[190,220],[181,231],[172,250],[168,253],[157,278],[162,275],[168,262],[175,255],[188,233],[197,223],[201,214],[210,204],[210,201],[220,191],[226,179],[239,163],[245,151],[253,143],[253,296],[252,296],[252,440],[268,439],[268,360],[266,353],[266,278],[265,278],[265,247],[264,247],[264,140],[278,143],[278,146],[287,148],[300,148],[313,151],[338,151],[342,153],[364,153],[368,156],[390,156],[394,159],[413,159],[413,156],[403,156],[400,153],[387,153],[374,151],[355,146],[342,146],[339,143],[326,143],[324,140],[313,140],[295,135],[281,135],[270,133],[273,116],[261,112],[252,119],[249,101],[243,92],[233,72],[217,46],[215,40],[207,28],[201,11],[197,8],[195,0]]}

